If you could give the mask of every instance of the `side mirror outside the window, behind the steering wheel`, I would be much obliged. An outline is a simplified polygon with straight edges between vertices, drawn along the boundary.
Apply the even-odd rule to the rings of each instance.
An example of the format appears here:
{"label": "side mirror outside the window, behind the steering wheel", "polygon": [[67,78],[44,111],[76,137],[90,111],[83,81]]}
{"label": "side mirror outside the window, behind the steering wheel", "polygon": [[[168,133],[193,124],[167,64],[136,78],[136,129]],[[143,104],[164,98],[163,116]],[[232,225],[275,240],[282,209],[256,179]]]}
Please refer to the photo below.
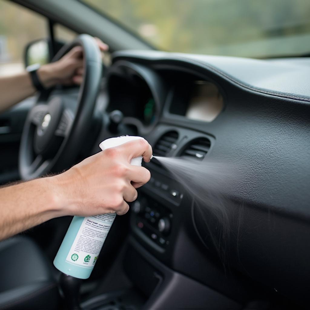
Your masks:
{"label": "side mirror outside the window, behind the steering wheel", "polygon": [[40,39],[27,44],[24,51],[25,67],[31,64],[47,64],[51,60],[50,44],[47,39]]}

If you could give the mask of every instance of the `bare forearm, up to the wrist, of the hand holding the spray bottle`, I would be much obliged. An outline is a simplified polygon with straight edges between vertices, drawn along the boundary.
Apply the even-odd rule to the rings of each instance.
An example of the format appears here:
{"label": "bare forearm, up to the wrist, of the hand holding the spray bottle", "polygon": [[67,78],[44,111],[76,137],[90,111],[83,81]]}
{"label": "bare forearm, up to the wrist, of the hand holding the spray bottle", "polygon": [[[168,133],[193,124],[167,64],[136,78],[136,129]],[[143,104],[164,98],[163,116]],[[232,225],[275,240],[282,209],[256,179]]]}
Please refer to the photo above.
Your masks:
{"label": "bare forearm, up to the wrist, of the hand holding the spray bottle", "polygon": [[1,188],[0,197],[0,240],[67,215],[53,177]]}

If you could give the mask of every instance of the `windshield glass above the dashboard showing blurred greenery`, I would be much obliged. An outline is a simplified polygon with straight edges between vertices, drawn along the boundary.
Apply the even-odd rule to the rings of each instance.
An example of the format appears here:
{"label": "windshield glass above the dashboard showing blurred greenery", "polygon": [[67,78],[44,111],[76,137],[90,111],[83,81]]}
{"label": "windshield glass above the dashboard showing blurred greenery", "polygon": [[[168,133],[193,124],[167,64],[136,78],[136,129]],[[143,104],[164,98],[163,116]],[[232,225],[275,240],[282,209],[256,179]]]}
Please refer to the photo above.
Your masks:
{"label": "windshield glass above the dashboard showing blurred greenery", "polygon": [[158,49],[265,58],[310,52],[309,0],[85,0]]}

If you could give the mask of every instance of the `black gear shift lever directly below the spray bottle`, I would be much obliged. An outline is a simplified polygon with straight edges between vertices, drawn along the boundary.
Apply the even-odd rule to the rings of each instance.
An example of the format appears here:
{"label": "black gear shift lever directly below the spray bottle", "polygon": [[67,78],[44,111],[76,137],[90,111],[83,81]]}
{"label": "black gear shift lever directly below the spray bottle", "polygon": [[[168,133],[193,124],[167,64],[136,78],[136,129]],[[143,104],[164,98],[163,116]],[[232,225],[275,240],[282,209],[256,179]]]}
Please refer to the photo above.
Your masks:
{"label": "black gear shift lever directly below the spray bottle", "polygon": [[68,276],[61,273],[60,287],[64,293],[64,299],[66,301],[68,310],[81,310],[80,307],[80,287],[82,279]]}

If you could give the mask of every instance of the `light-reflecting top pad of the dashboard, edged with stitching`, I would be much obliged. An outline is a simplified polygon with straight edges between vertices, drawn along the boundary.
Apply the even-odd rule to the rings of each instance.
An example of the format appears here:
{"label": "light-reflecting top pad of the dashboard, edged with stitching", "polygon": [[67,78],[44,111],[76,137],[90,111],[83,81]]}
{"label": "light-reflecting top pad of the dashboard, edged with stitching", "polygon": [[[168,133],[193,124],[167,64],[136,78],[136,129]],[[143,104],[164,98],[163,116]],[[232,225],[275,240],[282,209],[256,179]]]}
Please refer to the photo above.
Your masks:
{"label": "light-reflecting top pad of the dashboard, edged with stitching", "polygon": [[114,54],[114,60],[118,57],[196,64],[250,90],[310,102],[310,60],[306,57],[258,60],[161,51],[121,51]]}

